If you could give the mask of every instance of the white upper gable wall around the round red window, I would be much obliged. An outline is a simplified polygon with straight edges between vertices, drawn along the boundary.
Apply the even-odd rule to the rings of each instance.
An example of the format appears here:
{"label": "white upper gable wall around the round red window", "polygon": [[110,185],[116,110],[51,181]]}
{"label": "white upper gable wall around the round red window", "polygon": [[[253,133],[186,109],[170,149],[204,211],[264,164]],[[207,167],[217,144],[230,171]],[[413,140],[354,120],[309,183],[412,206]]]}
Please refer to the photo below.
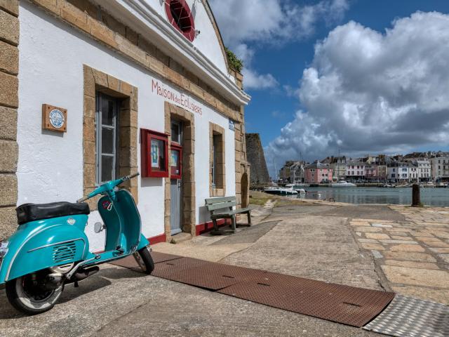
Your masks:
{"label": "white upper gable wall around the round red window", "polygon": [[[165,3],[161,0],[142,0],[161,15],[162,18],[167,19]],[[206,12],[206,8],[199,0],[187,0],[187,4],[194,15],[195,29],[200,31],[200,34],[194,39],[193,44],[196,49],[201,51],[215,66],[217,66],[223,74],[228,76],[225,57],[222,53],[220,43],[215,34],[212,22]]]}

